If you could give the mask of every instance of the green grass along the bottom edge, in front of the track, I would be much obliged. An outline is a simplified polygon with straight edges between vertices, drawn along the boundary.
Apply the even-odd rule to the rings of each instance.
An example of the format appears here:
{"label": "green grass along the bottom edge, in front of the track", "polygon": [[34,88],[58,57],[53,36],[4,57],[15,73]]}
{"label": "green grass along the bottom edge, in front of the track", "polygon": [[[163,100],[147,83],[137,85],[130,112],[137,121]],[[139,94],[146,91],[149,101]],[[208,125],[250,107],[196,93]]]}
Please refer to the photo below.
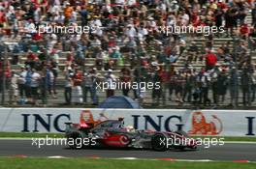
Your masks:
{"label": "green grass along the bottom edge, in front of the track", "polygon": [[255,169],[255,163],[174,162],[163,160],[91,159],[91,158],[17,158],[1,157],[0,169]]}

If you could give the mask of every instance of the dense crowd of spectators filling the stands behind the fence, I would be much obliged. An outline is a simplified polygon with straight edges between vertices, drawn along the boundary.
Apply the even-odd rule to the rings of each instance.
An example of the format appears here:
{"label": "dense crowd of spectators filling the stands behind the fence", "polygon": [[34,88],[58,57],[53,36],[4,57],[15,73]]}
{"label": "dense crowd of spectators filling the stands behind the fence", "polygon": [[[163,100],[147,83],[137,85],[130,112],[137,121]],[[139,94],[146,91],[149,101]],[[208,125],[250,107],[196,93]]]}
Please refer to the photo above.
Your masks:
{"label": "dense crowd of spectators filling the stands behind the fence", "polygon": [[[56,26],[89,29],[48,32]],[[216,26],[225,32],[159,31],[175,26]],[[218,38],[227,42],[215,48]],[[154,105],[236,107],[240,100],[250,106],[255,99],[253,0],[0,0],[0,42],[0,81],[6,80],[0,89],[8,90],[10,103],[38,105],[41,99],[47,105],[49,98],[63,96],[67,104],[97,105],[97,84],[109,83],[109,98],[117,80],[160,82],[160,88],[146,92],[122,88],[122,95],[141,102],[150,98]]]}

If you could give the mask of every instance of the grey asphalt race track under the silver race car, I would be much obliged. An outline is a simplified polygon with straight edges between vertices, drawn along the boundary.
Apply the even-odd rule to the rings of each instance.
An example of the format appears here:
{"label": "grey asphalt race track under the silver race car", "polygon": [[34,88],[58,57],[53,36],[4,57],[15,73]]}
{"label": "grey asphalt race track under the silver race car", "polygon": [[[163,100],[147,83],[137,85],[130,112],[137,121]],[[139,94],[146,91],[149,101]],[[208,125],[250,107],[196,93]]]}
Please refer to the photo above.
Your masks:
{"label": "grey asphalt race track under the silver race car", "polygon": [[65,157],[139,157],[209,160],[249,160],[256,161],[256,144],[225,143],[223,146],[200,147],[196,151],[154,152],[150,150],[72,150],[67,146],[32,146],[32,140],[0,140],[0,156],[65,156]]}

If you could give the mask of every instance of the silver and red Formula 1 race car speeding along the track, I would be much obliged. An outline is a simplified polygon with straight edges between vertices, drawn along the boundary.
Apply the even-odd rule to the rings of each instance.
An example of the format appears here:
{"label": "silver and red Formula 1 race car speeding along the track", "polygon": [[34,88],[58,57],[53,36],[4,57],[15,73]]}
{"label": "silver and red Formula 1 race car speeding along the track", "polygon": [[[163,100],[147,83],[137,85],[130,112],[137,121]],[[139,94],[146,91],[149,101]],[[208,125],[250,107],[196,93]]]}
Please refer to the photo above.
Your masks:
{"label": "silver and red Formula 1 race car speeding along the track", "polygon": [[[196,140],[188,138],[184,131],[159,132],[136,130],[124,127],[123,118],[103,122],[81,124],[66,123],[65,136],[73,149],[86,147],[141,148],[154,151],[168,151],[171,148],[183,150],[196,149]],[[70,142],[70,140],[72,140]],[[69,144],[71,143],[71,144]]]}

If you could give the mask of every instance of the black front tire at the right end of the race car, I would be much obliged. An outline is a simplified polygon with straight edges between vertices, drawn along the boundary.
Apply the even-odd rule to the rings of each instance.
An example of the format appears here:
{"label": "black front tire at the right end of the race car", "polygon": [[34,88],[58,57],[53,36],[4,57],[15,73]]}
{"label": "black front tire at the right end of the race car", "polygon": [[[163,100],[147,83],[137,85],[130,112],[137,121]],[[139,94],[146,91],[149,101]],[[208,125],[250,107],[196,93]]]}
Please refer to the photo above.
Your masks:
{"label": "black front tire at the right end of the race car", "polygon": [[169,136],[165,133],[155,133],[151,138],[151,146],[154,151],[165,152],[168,151],[168,139]]}

